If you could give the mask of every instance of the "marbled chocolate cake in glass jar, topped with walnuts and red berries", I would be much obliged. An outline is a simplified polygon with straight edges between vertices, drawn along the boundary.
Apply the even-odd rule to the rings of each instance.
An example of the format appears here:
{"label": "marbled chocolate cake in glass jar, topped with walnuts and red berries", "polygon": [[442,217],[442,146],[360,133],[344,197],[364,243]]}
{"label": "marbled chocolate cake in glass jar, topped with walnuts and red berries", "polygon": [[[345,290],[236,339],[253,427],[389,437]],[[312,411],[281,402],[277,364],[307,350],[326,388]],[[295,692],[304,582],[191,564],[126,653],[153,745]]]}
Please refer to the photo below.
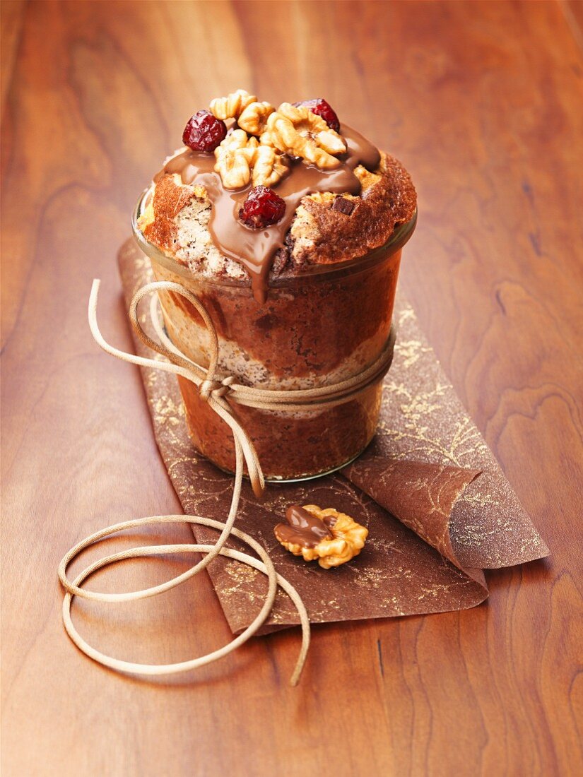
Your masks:
{"label": "marbled chocolate cake in glass jar, topped with walnuts and red berries", "polygon": [[[386,348],[416,193],[392,156],[323,99],[277,109],[243,90],[189,120],[184,147],[138,202],[134,235],[156,280],[195,294],[218,335],[218,371],[257,389],[333,386]],[[166,331],[207,366],[208,331],[186,298],[159,291]],[[196,448],[235,468],[229,427],[179,377]],[[268,480],[319,476],[375,434],[382,375],[347,401],[265,410],[233,403]]]}

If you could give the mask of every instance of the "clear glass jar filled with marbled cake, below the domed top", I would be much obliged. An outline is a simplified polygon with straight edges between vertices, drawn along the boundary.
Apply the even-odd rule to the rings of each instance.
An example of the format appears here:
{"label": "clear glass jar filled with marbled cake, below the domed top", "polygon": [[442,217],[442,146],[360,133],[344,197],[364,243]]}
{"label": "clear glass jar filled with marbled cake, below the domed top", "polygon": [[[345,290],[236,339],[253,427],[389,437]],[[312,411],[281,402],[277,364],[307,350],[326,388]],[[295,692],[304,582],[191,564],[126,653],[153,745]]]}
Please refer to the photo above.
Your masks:
{"label": "clear glass jar filled with marbled cake, below the domed top", "polygon": [[[259,389],[312,389],[358,375],[381,354],[389,336],[401,249],[417,214],[384,246],[357,260],[317,265],[271,282],[260,305],[250,281],[203,277],[148,242],[132,225],[156,280],[172,280],[196,294],[218,334],[218,371]],[[187,299],[159,292],[170,340],[187,357],[208,365],[210,338]],[[191,382],[179,376],[188,431],[196,448],[228,472],[235,468],[232,434]],[[347,465],[366,448],[379,419],[382,378],[344,404],[267,411],[235,404],[234,412],[257,449],[267,480],[321,476]]]}

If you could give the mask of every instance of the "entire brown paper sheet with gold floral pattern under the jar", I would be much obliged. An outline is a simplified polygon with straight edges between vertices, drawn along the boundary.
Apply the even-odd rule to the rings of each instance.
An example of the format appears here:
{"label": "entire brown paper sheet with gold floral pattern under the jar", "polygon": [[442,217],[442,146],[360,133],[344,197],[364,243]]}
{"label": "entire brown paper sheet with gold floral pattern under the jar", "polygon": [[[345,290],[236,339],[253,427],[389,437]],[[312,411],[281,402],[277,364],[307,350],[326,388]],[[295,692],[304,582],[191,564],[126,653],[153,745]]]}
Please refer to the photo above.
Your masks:
{"label": "entire brown paper sheet with gold floral pattern under the jar", "polygon": [[[133,241],[122,246],[118,260],[129,305],[153,277]],[[270,485],[260,503],[250,486],[243,486],[237,525],[264,545],[302,597],[312,623],[470,608],[487,598],[480,567],[522,563],[548,552],[419,333],[413,311],[402,302],[398,319],[372,446],[343,474]],[[146,306],[140,320],[152,334]],[[152,357],[134,341],[138,354]],[[141,372],[155,439],[185,513],[224,521],[232,476],[194,449],[176,378],[149,368]],[[288,553],[273,528],[292,503],[335,507],[367,526],[360,556],[323,570]],[[201,543],[218,536],[201,526],[193,531]],[[240,632],[264,601],[264,576],[224,558],[215,559],[208,573],[229,626]],[[296,623],[295,608],[278,593],[263,631]]]}

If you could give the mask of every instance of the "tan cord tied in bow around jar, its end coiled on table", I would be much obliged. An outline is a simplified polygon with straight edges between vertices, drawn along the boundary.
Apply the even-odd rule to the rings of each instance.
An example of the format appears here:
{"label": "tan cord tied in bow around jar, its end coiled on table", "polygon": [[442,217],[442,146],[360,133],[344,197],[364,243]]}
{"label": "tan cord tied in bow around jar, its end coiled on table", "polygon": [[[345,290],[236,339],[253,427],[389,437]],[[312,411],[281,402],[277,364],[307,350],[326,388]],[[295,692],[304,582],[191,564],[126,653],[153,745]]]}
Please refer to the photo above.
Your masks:
{"label": "tan cord tied in bow around jar, its end coiled on table", "polygon": [[[156,343],[152,340],[144,329],[142,329],[140,322],[138,321],[138,305],[145,294],[149,294],[153,291],[159,290],[174,291],[176,294],[181,294],[187,298],[188,301],[197,312],[201,315],[204,321],[208,333],[211,337],[211,354],[209,358],[208,368],[203,368],[194,361],[188,359],[184,354],[180,352],[174,346],[174,344],[166,336],[162,326],[159,322],[158,309],[156,308],[156,297],[152,298],[152,304],[150,305],[150,313],[152,316],[152,323],[156,333],[160,338],[160,342]],[[241,385],[235,382],[232,376],[219,375],[217,371],[218,365],[218,337],[215,330],[215,326],[211,321],[211,317],[208,315],[206,308],[202,305],[201,301],[197,297],[188,291],[180,284],[172,283],[170,281],[157,281],[152,284],[139,289],[134,298],[131,301],[129,317],[135,332],[145,345],[151,350],[166,357],[168,361],[161,361],[158,359],[148,359],[146,357],[136,356],[134,354],[127,354],[122,350],[119,350],[103,339],[99,326],[97,324],[97,298],[99,294],[99,280],[93,281],[93,287],[91,289],[91,295],[89,297],[89,326],[96,342],[99,344],[106,353],[111,354],[122,361],[130,362],[131,364],[138,364],[141,367],[148,367],[159,369],[162,371],[173,372],[175,375],[182,375],[183,378],[187,378],[190,382],[193,382],[197,386],[201,398],[208,402],[208,405],[227,423],[232,431],[233,441],[235,444],[236,454],[236,471],[235,481],[233,484],[231,506],[229,508],[229,515],[225,523],[220,521],[212,521],[210,518],[205,518],[195,515],[168,515],[168,516],[155,516],[148,518],[139,518],[133,521],[125,521],[124,523],[114,524],[101,531],[97,531],[95,534],[87,537],[79,542],[75,547],[65,554],[58,568],[59,580],[61,585],[65,588],[67,593],[63,601],[63,622],[68,636],[72,641],[82,650],[86,655],[98,661],[100,664],[104,664],[107,667],[116,669],[117,671],[134,672],[137,674],[172,674],[179,671],[187,671],[197,667],[204,666],[211,661],[222,658],[232,650],[236,650],[237,647],[250,639],[257,629],[264,624],[268,615],[273,608],[275,596],[277,593],[278,585],[281,586],[288,596],[294,602],[295,607],[298,609],[300,616],[300,622],[302,624],[302,648],[298,657],[298,662],[295,666],[294,673],[292,674],[292,685],[298,682],[299,675],[301,674],[303,664],[305,662],[305,656],[309,647],[309,619],[305,606],[297,591],[288,583],[285,578],[278,575],[275,571],[273,562],[267,555],[265,549],[252,537],[234,528],[233,524],[236,519],[237,509],[239,507],[239,498],[241,494],[241,486],[243,483],[243,467],[246,465],[247,472],[250,477],[253,493],[257,497],[264,492],[265,482],[264,475],[261,470],[259,458],[257,457],[257,451],[253,446],[249,435],[241,427],[238,420],[232,413],[231,403],[238,402],[239,404],[257,407],[266,411],[273,410],[298,410],[298,409],[317,409],[323,406],[333,406],[340,404],[341,402],[348,402],[358,392],[363,391],[373,382],[378,381],[382,375],[389,369],[391,361],[393,359],[393,347],[395,343],[395,335],[393,329],[389,336],[389,340],[386,343],[385,348],[382,350],[382,354],[379,359],[367,368],[360,375],[354,378],[349,378],[346,381],[337,383],[331,386],[323,386],[318,389],[298,389],[293,391],[272,391],[267,389],[253,389],[250,386]],[[99,559],[95,563],[91,564],[80,573],[75,580],[70,581],[67,577],[67,567],[72,560],[79,555],[82,550],[86,549],[89,545],[93,545],[94,542],[117,533],[117,531],[123,531],[124,529],[134,528],[144,524],[159,524],[159,523],[177,523],[187,522],[192,524],[201,524],[204,526],[211,526],[221,530],[215,545],[148,545],[140,548],[133,548],[124,552],[114,553],[110,556],[105,556],[103,559]],[[245,553],[241,553],[236,550],[225,548],[225,542],[230,535],[235,535],[243,542],[246,542],[250,547],[257,552],[261,560],[248,556]],[[201,552],[205,553],[201,561],[192,566],[190,570],[173,577],[171,580],[166,580],[165,583],[157,586],[142,589],[141,591],[128,591],[120,594],[104,594],[97,591],[86,591],[82,588],[82,583],[96,570],[101,569],[103,566],[107,566],[110,563],[117,563],[124,559],[136,558],[138,556],[154,556],[164,555],[176,552]],[[231,643],[225,645],[219,650],[215,650],[212,653],[208,653],[206,656],[199,658],[182,661],[177,664],[135,664],[130,661],[124,661],[110,656],[106,656],[104,653],[99,652],[90,646],[79,632],[76,631],[71,618],[71,603],[74,596],[80,596],[86,599],[93,599],[96,601],[134,601],[135,599],[143,599],[156,594],[162,594],[164,591],[169,591],[170,588],[180,585],[181,583],[189,580],[195,574],[204,570],[206,566],[217,556],[227,556],[232,559],[237,559],[243,563],[253,566],[255,569],[267,575],[269,580],[266,600],[257,618],[243,631],[239,636],[232,640]]]}

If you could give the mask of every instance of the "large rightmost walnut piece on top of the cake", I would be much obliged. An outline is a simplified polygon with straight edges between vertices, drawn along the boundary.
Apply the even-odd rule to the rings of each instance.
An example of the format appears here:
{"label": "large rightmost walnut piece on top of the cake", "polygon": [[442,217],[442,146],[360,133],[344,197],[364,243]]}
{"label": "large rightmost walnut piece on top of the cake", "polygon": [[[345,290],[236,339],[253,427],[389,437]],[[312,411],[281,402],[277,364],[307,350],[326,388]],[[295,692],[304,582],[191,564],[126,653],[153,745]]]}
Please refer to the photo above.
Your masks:
{"label": "large rightmost walnut piece on top of the cake", "polygon": [[344,139],[316,113],[290,103],[281,103],[267,117],[261,143],[274,146],[281,153],[307,159],[320,169],[340,165],[335,155],[344,154],[347,149]]}

